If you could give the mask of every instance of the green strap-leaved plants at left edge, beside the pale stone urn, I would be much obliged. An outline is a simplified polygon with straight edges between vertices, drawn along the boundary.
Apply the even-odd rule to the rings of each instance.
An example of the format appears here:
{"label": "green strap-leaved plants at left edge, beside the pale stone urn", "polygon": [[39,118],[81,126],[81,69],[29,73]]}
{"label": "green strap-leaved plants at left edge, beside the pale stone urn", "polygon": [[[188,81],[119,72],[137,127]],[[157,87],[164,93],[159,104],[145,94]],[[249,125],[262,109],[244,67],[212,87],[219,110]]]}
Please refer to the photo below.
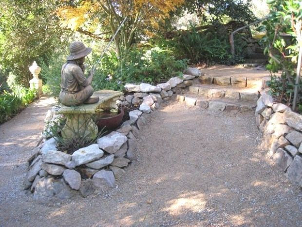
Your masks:
{"label": "green strap-leaved plants at left edge, beside the pale stone urn", "polygon": [[4,91],[0,94],[0,124],[19,113],[36,98],[36,90],[22,89],[19,92]]}

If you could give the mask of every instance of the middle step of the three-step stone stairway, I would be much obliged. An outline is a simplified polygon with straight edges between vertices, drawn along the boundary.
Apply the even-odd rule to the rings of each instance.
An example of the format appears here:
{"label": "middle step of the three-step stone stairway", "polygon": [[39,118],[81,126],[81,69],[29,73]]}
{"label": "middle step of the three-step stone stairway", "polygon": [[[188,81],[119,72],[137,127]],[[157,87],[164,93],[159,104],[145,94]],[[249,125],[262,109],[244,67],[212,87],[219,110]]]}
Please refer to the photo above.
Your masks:
{"label": "middle step of the three-step stone stairway", "polygon": [[259,98],[258,91],[244,91],[243,89],[223,89],[211,88],[202,86],[189,86],[189,94],[199,98],[213,100],[213,99],[226,99],[235,100],[236,102],[245,101],[256,103]]}

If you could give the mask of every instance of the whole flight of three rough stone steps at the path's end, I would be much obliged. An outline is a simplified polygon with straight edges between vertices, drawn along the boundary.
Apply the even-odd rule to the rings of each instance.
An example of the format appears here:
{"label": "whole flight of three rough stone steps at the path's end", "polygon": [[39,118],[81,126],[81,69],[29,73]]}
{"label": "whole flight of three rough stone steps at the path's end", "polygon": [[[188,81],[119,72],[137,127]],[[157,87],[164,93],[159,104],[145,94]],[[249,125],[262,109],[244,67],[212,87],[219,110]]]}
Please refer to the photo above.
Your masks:
{"label": "whole flight of three rough stone steps at the path's end", "polygon": [[239,113],[254,110],[263,78],[202,75],[192,81],[178,102],[203,109]]}

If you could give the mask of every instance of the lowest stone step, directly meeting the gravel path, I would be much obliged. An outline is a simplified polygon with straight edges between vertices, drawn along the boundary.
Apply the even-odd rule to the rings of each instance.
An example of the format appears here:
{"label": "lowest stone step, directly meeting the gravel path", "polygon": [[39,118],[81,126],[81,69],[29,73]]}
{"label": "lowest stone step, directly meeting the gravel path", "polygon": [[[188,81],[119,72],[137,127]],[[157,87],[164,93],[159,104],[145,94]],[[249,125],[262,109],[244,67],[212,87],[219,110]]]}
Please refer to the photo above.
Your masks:
{"label": "lowest stone step, directly meeting the gravel path", "polygon": [[188,106],[195,105],[203,109],[209,109],[214,111],[220,110],[229,113],[243,113],[246,111],[254,111],[254,109],[256,108],[256,105],[250,104],[248,102],[230,102],[226,99],[207,100],[196,98],[188,94],[177,95],[176,99],[178,102],[185,103]]}

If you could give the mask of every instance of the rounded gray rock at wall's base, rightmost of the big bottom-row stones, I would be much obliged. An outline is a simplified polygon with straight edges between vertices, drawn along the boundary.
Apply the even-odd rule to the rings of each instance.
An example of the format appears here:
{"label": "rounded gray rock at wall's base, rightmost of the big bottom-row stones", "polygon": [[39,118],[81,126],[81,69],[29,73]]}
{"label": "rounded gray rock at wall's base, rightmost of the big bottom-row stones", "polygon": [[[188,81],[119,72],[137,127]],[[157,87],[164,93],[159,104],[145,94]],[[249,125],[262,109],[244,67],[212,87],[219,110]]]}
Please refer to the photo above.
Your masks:
{"label": "rounded gray rock at wall's base, rightmost of the big bottom-row stones", "polygon": [[112,171],[100,170],[93,176],[93,183],[96,187],[107,188],[115,187],[115,179]]}

